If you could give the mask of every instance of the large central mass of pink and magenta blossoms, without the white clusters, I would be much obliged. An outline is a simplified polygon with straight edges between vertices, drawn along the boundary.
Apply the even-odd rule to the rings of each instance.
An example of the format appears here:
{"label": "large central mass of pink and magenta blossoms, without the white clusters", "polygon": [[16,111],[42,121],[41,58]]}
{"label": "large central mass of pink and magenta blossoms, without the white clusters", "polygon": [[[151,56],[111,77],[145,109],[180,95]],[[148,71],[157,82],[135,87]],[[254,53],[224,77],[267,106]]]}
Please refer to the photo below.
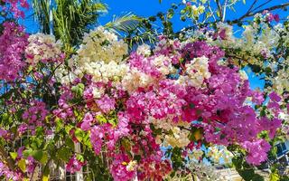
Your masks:
{"label": "large central mass of pink and magenta blossoms, without the white clusters", "polygon": [[[205,42],[182,46],[172,41],[163,40],[163,43],[150,56],[133,52],[127,60],[131,71],[141,72],[153,80],[144,87],[126,92],[122,81],[117,84],[93,82],[89,75],[82,80],[86,110],[78,127],[89,131],[97,155],[105,153],[113,159],[110,172],[114,179],[131,180],[137,176],[141,180],[162,180],[172,171],[170,159],[163,158],[163,145],[155,138],[169,133],[165,129],[163,133],[154,132],[152,128],[158,126],[154,125],[154,120],[167,120],[172,124],[185,121],[190,125],[187,129],[203,129],[204,138],[200,138],[199,146],[201,141],[224,146],[237,144],[247,150],[248,163],[259,165],[264,161],[270,145],[257,135],[266,130],[269,137],[274,138],[281,121],[260,118],[256,110],[247,105],[247,98],[251,98],[252,104],[262,104],[262,93],[250,90],[248,81],[241,78],[237,67],[218,63],[225,55],[218,47]],[[158,62],[160,57],[163,62]],[[188,75],[185,67],[200,57],[209,60],[210,77],[203,80],[201,87],[180,81]],[[165,67],[171,70],[172,66],[178,70],[173,78],[170,71],[165,71]],[[98,97],[94,97],[95,91]],[[64,87],[60,108],[54,110],[54,114],[73,120],[70,100],[74,96],[69,87]],[[272,102],[279,101],[275,94],[270,97]],[[183,153],[195,145],[191,140],[182,148]],[[254,150],[258,150],[257,153]],[[133,156],[138,158],[135,160]]]}

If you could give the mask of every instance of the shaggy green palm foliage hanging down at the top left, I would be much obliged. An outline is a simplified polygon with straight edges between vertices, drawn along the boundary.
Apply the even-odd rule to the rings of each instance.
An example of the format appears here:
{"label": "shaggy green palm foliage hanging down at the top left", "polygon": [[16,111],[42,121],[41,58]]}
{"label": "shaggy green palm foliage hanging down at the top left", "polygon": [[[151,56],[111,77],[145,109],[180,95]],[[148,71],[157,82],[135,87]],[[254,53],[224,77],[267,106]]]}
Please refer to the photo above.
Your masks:
{"label": "shaggy green palm foliage hanging down at the top left", "polygon": [[[36,19],[42,33],[49,33],[49,0],[33,0]],[[67,47],[80,43],[89,26],[98,22],[100,14],[107,12],[107,5],[99,0],[55,0],[53,5],[54,35]]]}

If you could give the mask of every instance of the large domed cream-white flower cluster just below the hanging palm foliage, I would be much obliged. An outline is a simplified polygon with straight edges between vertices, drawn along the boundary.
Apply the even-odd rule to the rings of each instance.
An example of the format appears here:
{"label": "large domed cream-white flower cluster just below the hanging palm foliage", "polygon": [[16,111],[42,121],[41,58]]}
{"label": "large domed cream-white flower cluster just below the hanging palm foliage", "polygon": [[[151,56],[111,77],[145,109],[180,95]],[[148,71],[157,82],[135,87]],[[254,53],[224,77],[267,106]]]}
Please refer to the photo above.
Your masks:
{"label": "large domed cream-white flower cluster just below the hanging palm foliage", "polygon": [[129,70],[126,62],[121,62],[127,54],[127,44],[118,40],[102,26],[85,34],[78,55],[71,58],[74,73],[80,78],[84,74],[93,81],[120,81]]}

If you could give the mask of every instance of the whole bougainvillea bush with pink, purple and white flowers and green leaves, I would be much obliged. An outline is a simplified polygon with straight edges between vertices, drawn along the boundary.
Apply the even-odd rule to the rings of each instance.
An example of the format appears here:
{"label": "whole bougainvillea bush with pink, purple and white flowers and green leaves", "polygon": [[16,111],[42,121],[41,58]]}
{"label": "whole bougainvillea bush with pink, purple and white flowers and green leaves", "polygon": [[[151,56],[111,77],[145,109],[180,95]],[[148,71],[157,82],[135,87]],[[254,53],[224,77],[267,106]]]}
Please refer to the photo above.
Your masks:
{"label": "whole bougainvillea bush with pink, purple and white flowers and green leaves", "polygon": [[[276,16],[268,15],[258,14],[240,38],[218,24],[134,50],[98,26],[72,55],[52,35],[6,21],[0,177],[48,180],[62,170],[85,180],[222,180],[203,162],[221,157],[246,180],[263,180],[254,170],[273,157],[274,140],[288,136],[289,109],[287,67],[277,67],[289,59],[275,57],[288,56],[278,52],[288,39],[276,36],[288,27],[271,28]],[[271,87],[251,90],[247,65],[269,67]]]}

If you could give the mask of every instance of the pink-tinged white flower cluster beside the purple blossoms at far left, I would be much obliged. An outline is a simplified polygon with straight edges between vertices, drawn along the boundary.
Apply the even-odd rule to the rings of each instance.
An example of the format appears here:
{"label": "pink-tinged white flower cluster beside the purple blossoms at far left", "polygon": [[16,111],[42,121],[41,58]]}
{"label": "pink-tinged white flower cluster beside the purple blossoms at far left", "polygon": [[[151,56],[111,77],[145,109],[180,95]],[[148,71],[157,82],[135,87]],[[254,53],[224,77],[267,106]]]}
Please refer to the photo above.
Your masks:
{"label": "pink-tinged white flower cluster beside the purple blossoms at far left", "polygon": [[57,62],[61,57],[61,42],[55,41],[50,34],[36,33],[28,38],[29,44],[25,49],[26,62],[36,64],[38,62]]}

